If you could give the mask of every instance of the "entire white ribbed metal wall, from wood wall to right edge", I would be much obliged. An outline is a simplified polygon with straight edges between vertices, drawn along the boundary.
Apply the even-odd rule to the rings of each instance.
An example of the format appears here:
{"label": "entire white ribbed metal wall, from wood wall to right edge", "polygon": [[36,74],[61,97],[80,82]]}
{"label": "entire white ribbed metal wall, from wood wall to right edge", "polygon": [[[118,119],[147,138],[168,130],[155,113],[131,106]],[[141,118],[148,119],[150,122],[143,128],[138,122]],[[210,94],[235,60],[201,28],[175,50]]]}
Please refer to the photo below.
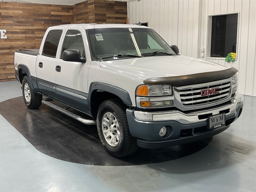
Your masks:
{"label": "entire white ribbed metal wall, from wood wall to right edge", "polygon": [[206,59],[239,70],[238,91],[256,96],[256,1],[255,0],[140,0],[128,2],[129,23],[148,22],[164,40],[178,45],[180,54],[201,57],[207,49],[208,15],[239,12],[237,60]]}

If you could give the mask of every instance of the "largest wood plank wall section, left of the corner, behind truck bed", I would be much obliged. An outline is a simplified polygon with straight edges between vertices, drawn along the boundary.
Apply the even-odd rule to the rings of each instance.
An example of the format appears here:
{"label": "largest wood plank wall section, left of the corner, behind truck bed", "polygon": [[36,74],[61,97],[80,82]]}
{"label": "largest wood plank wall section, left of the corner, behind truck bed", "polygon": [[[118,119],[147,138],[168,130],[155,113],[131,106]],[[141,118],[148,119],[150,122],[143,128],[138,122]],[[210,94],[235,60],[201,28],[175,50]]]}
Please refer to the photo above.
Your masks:
{"label": "largest wood plank wall section, left of the corner, behind truck bed", "polygon": [[73,6],[0,2],[0,81],[15,80],[13,54],[19,49],[39,49],[46,29],[73,22]]}

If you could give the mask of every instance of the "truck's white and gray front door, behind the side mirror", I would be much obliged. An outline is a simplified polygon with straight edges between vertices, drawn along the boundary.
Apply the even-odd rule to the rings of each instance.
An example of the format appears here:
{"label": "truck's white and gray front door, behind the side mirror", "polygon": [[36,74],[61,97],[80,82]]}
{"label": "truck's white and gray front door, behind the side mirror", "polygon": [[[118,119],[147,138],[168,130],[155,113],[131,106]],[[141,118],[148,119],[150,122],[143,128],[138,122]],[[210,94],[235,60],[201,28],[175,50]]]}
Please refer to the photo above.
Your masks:
{"label": "truck's white and gray front door, behind the side mirror", "polygon": [[[76,109],[89,113],[88,109],[88,70],[91,64],[85,29],[76,26],[67,29],[63,35],[59,57],[56,61],[55,82],[58,100]],[[85,63],[64,61],[63,51],[75,49],[80,51]]]}

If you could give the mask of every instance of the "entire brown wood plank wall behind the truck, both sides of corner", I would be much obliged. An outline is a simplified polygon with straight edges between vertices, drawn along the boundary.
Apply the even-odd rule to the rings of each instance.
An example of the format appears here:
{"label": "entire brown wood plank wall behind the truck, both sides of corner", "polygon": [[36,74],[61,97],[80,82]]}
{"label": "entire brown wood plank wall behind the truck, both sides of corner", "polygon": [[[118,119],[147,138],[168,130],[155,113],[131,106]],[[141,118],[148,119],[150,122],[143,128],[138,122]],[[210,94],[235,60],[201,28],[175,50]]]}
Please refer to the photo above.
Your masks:
{"label": "entire brown wood plank wall behind the truck, both sides of corner", "polygon": [[[95,12],[95,21],[94,21]],[[126,23],[127,3],[88,0],[70,5],[0,2],[0,81],[16,80],[16,50],[39,49],[47,28],[71,23]]]}

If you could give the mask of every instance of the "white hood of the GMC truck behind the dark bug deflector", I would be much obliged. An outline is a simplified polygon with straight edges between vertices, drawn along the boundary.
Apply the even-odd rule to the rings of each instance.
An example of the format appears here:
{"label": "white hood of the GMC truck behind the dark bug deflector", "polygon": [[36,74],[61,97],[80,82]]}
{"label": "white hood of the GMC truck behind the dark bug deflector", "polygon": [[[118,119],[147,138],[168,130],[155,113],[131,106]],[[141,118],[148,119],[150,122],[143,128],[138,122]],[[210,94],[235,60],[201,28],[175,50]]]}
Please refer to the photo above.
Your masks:
{"label": "white hood of the GMC truck behind the dark bug deflector", "polygon": [[182,55],[101,61],[100,67],[134,76],[141,80],[227,69],[227,67],[210,61],[194,59]]}

